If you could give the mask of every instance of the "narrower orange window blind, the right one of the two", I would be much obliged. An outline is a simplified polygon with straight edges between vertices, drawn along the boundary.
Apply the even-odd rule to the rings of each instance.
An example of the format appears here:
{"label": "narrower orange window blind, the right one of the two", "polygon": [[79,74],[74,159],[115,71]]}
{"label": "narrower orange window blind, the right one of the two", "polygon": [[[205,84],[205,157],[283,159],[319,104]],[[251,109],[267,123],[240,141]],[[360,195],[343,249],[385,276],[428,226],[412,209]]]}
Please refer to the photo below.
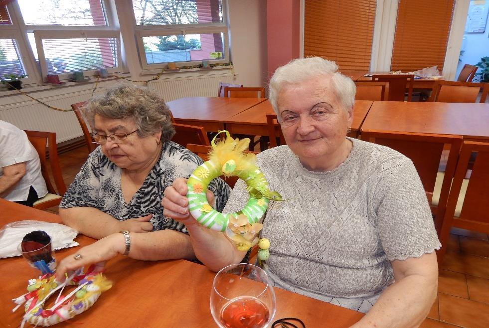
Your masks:
{"label": "narrower orange window blind, the right one of the two", "polygon": [[455,0],[399,0],[391,70],[443,70]]}

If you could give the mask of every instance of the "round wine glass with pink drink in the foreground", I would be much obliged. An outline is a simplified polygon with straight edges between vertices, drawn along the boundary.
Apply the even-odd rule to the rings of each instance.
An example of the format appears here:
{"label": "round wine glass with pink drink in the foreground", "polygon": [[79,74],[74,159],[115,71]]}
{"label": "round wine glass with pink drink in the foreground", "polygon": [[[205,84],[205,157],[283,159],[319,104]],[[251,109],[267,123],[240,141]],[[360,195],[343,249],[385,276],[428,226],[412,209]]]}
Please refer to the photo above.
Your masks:
{"label": "round wine glass with pink drink in the foreground", "polygon": [[248,263],[232,264],[217,273],[210,311],[220,328],[264,328],[275,315],[275,293],[265,271]]}

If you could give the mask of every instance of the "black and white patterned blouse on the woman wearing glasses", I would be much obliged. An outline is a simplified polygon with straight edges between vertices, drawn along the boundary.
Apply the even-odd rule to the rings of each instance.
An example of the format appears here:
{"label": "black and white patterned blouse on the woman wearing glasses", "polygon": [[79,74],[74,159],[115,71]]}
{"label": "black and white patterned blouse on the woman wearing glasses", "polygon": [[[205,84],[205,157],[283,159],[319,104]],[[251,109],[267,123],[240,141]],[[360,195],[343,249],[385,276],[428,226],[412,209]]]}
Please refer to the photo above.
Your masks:
{"label": "black and white patterned blouse on the woman wearing glasses", "polygon": [[[174,142],[164,143],[160,160],[128,204],[122,194],[122,169],[98,147],[75,176],[59,207],[94,207],[121,221],[153,214],[150,221],[153,230],[173,229],[186,233],[182,223],[163,216],[163,191],[174,179],[188,178],[202,163],[202,159],[186,148]],[[216,196],[216,210],[222,211],[229,197],[229,186],[217,178],[209,183],[208,189]]]}

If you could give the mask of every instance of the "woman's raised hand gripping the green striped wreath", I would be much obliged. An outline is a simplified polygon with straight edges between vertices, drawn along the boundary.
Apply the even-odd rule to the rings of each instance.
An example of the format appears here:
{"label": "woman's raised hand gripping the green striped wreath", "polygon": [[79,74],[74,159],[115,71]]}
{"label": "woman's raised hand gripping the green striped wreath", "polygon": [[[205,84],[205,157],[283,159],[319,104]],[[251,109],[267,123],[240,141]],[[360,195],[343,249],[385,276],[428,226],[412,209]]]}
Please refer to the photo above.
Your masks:
{"label": "woman's raised hand gripping the green striped wreath", "polygon": [[[186,181],[186,179],[182,178],[175,179],[171,186],[164,190],[162,206],[163,215],[185,224],[188,228],[189,226],[198,224],[198,222],[195,221],[188,211],[188,199],[186,197],[188,187]],[[214,194],[210,190],[207,190],[206,196],[209,204],[212,204],[214,202]]]}

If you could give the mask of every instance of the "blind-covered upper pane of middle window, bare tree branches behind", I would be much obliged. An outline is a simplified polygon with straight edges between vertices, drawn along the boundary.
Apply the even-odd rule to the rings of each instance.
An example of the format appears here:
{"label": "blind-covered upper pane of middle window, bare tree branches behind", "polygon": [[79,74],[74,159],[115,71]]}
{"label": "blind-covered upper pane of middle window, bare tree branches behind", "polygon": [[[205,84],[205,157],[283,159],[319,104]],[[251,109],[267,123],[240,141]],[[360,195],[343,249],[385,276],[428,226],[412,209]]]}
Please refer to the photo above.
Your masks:
{"label": "blind-covered upper pane of middle window, bare tree branches behind", "polygon": [[221,0],[133,0],[137,25],[222,22]]}

